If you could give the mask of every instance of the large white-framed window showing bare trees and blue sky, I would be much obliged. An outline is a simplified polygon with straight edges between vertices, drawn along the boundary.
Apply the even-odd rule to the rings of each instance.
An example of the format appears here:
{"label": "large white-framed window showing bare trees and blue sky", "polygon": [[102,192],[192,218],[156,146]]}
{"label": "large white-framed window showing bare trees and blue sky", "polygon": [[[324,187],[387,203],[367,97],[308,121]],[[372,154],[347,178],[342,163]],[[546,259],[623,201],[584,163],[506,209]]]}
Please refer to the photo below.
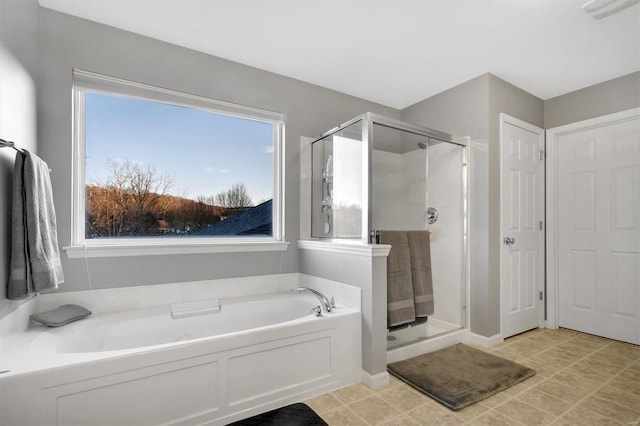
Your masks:
{"label": "large white-framed window showing bare trees and blue sky", "polygon": [[70,257],[286,249],[282,114],[73,78]]}

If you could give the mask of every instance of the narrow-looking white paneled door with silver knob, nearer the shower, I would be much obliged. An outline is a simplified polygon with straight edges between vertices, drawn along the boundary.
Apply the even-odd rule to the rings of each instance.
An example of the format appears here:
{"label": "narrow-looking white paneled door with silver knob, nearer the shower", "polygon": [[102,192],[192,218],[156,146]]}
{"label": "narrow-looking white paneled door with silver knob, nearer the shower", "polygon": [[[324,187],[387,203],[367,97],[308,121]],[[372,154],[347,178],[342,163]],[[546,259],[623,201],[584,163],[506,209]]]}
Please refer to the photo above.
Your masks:
{"label": "narrow-looking white paneled door with silver knob, nearer the shower", "polygon": [[542,324],[544,130],[500,115],[502,337]]}

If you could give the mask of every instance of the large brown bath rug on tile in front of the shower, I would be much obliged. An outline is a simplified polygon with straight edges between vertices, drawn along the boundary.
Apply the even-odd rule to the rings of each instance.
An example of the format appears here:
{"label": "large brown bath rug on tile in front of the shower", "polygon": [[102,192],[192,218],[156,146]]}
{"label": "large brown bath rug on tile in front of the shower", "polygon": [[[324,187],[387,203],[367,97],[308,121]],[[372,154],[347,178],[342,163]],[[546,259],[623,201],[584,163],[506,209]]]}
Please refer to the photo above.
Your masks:
{"label": "large brown bath rug on tile in front of the shower", "polygon": [[456,411],[536,374],[462,343],[387,367],[400,380]]}

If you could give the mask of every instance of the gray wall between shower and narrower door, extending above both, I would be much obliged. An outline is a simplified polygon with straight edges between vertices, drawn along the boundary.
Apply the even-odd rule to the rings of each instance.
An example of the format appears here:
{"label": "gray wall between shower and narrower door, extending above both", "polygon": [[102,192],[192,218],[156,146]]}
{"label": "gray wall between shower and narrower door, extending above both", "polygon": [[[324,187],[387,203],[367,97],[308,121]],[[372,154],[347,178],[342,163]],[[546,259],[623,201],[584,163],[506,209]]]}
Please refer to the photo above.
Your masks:
{"label": "gray wall between shower and narrower door, extending above both", "polygon": [[471,138],[470,316],[471,331],[483,336],[500,333],[501,112],[543,125],[542,100],[492,74],[402,111],[405,121]]}

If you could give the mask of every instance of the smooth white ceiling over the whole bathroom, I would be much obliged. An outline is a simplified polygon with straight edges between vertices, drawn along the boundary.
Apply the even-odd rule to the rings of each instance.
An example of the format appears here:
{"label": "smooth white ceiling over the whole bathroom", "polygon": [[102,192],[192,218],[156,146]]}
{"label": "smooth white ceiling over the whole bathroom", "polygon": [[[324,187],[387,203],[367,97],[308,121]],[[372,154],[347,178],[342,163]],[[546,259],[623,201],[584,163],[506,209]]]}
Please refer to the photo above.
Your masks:
{"label": "smooth white ceiling over the whole bathroom", "polygon": [[640,70],[640,5],[587,0],[39,0],[402,109],[490,72],[548,99]]}

